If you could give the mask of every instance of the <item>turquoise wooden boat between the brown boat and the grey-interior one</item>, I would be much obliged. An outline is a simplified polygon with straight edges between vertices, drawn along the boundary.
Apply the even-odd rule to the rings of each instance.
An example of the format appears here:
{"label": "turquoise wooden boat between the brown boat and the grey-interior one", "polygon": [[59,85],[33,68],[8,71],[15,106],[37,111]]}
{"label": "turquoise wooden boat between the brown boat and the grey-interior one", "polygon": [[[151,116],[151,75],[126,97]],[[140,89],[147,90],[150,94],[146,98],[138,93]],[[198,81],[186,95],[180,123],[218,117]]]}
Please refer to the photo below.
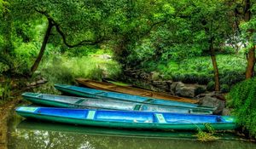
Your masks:
{"label": "turquoise wooden boat between the brown boat and the grey-interior one", "polygon": [[127,94],[116,93],[116,92],[108,92],[108,91],[99,90],[99,89],[82,88],[82,87],[77,87],[72,85],[55,84],[55,89],[58,89],[61,92],[69,95],[77,95],[82,97],[126,100],[126,101],[132,101],[132,102],[140,102],[140,103],[163,105],[163,106],[200,108],[200,109],[209,110],[209,111],[215,110],[215,108],[210,106],[200,106],[197,104],[178,102],[173,100],[160,100],[160,99],[148,98],[148,97],[143,97],[138,95],[127,95]]}

